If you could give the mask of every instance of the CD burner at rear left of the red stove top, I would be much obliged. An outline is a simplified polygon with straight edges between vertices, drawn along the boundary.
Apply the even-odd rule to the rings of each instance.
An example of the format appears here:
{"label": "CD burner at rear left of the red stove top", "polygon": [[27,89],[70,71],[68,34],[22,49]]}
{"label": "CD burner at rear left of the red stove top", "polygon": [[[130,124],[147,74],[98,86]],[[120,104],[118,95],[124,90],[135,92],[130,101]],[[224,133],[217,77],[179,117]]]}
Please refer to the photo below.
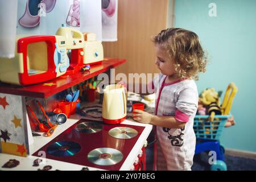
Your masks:
{"label": "CD burner at rear left of the red stove top", "polygon": [[82,133],[97,133],[102,130],[102,125],[97,122],[82,122],[76,125],[75,130]]}

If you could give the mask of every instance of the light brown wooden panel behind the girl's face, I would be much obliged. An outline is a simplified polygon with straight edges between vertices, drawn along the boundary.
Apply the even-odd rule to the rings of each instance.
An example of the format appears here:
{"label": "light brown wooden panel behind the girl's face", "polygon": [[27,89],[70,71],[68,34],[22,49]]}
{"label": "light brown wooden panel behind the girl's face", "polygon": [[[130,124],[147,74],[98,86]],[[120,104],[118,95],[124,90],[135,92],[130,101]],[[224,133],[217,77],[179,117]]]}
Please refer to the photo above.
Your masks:
{"label": "light brown wooden panel behind the girl's face", "polygon": [[115,73],[158,73],[151,38],[167,27],[168,0],[119,0],[118,41],[103,42],[105,57],[127,62]]}

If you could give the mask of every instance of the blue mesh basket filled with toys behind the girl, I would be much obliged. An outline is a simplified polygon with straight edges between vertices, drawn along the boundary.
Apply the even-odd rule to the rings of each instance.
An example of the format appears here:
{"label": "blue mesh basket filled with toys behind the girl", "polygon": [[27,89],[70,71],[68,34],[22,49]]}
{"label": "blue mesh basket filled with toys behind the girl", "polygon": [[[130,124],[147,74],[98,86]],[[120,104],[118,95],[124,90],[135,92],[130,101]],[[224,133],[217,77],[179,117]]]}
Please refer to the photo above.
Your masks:
{"label": "blue mesh basket filled with toys behind the girl", "polygon": [[[237,87],[231,82],[226,89],[222,105],[220,105],[221,92],[208,88],[200,94],[197,112],[200,115],[196,115],[194,121],[197,138],[218,139],[224,127],[234,125],[230,109],[236,93]],[[205,113],[202,110],[205,110]]]}

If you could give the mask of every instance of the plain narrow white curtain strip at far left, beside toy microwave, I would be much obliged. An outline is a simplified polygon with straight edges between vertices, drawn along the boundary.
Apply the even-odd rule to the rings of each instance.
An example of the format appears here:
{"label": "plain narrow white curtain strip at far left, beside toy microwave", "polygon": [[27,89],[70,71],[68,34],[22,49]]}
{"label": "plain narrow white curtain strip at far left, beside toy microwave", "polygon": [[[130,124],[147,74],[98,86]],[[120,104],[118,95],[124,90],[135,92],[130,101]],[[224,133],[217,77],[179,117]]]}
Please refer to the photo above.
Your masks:
{"label": "plain narrow white curtain strip at far left, beside toy microwave", "polygon": [[0,57],[14,57],[18,0],[0,0]]}

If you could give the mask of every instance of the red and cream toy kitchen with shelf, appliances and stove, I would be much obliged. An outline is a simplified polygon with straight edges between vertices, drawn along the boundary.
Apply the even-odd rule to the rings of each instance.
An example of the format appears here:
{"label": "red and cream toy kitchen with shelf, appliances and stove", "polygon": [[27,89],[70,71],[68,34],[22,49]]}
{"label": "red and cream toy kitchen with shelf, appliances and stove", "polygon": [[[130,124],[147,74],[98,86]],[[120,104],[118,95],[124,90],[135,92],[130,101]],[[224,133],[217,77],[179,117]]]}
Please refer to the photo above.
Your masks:
{"label": "red and cream toy kitchen with shelf, appliances and stove", "polygon": [[17,36],[15,57],[0,58],[0,169],[145,170],[152,125],[127,118],[122,85],[103,104],[83,99],[86,81],[125,62],[70,27]]}

